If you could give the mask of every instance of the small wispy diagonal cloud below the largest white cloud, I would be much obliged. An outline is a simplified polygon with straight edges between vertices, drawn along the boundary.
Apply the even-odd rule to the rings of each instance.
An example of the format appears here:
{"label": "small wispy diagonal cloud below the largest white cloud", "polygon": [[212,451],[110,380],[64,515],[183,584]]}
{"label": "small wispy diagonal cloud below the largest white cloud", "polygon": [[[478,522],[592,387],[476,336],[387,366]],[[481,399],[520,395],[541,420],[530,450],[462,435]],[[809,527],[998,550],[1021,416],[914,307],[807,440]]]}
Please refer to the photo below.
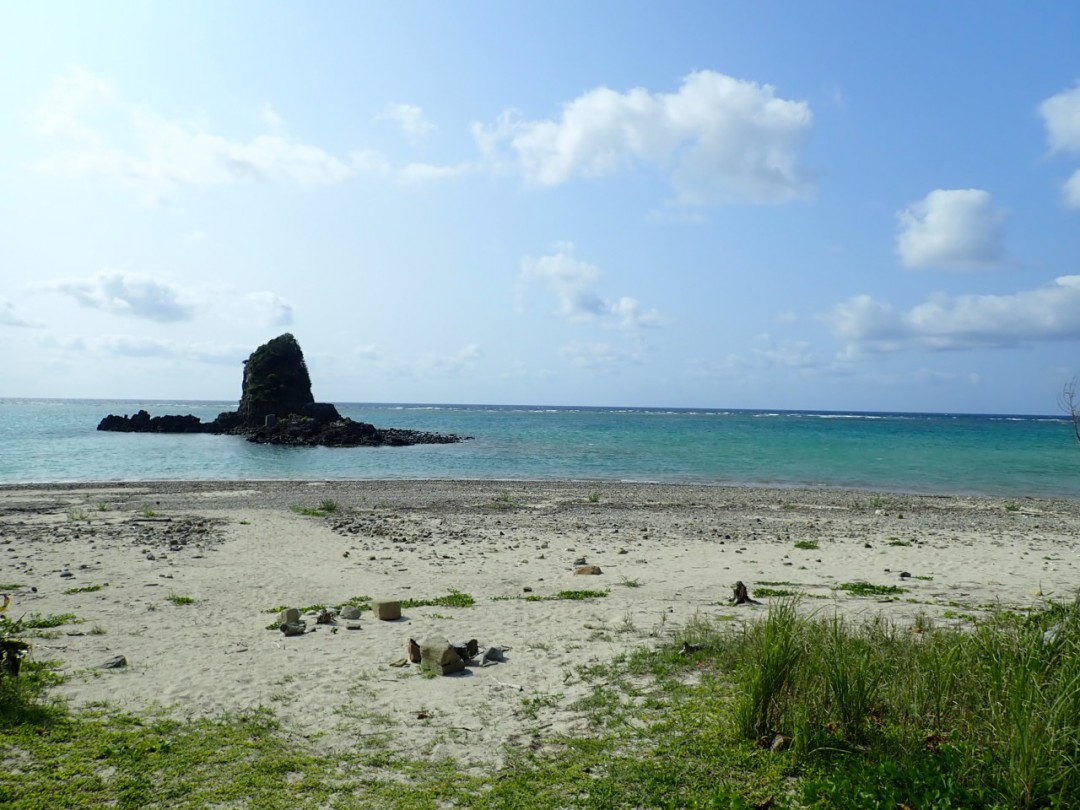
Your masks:
{"label": "small wispy diagonal cloud below the largest white cloud", "polygon": [[549,256],[522,259],[522,280],[546,284],[558,297],[557,314],[568,321],[599,321],[634,334],[663,324],[658,310],[644,310],[634,298],[623,296],[613,302],[603,299],[595,291],[603,276],[604,271],[596,265],[575,257],[570,243]]}

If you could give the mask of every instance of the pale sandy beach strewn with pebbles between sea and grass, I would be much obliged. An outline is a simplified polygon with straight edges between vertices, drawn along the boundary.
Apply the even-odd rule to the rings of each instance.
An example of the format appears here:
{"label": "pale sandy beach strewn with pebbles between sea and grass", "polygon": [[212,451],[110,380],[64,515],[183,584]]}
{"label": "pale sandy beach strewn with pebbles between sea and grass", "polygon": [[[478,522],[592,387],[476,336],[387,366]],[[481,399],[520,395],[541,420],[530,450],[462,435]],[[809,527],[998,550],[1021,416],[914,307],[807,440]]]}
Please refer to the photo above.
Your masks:
{"label": "pale sandy beach strewn with pebbles between sea and grass", "polygon": [[[303,514],[333,502],[333,511]],[[516,482],[213,482],[0,488],[9,616],[72,613],[33,642],[73,707],[180,717],[268,706],[328,752],[386,739],[464,767],[572,731],[576,667],[743,621],[737,581],[805,594],[804,610],[964,622],[1080,589],[1080,502],[846,490]],[[807,542],[812,541],[812,542]],[[816,549],[797,548],[796,543]],[[576,573],[584,561],[602,573]],[[903,589],[859,596],[867,582]],[[566,591],[605,596],[558,598]],[[286,637],[273,608],[357,596],[397,621]],[[532,597],[532,598],[528,598]],[[355,626],[359,624],[359,627]],[[423,677],[409,638],[475,638],[504,661]],[[103,669],[123,656],[125,665]]]}

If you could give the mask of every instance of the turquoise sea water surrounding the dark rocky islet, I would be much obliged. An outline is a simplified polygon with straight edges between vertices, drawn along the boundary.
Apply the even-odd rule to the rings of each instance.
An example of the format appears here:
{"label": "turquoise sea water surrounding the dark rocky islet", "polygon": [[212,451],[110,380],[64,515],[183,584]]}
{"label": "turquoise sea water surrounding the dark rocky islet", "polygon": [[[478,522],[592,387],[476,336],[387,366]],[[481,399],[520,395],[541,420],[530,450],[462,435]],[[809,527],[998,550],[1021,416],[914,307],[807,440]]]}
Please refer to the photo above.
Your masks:
{"label": "turquoise sea water surrounding the dark rocky islet", "polygon": [[474,438],[283,448],[96,430],[106,414],[213,419],[235,405],[0,400],[0,483],[569,478],[1080,497],[1080,447],[1059,417],[339,403],[343,416],[380,428]]}

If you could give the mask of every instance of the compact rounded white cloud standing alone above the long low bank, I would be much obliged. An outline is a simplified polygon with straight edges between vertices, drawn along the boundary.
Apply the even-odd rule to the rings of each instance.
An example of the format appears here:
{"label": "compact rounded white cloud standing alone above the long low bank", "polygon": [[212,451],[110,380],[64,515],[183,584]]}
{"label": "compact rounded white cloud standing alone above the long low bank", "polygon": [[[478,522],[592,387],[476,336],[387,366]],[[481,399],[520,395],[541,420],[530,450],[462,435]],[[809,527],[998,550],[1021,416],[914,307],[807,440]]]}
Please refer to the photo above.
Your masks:
{"label": "compact rounded white cloud standing alone above the long low bank", "polygon": [[1005,260],[1002,222],[982,189],[937,189],[902,211],[896,252],[905,267],[971,270]]}

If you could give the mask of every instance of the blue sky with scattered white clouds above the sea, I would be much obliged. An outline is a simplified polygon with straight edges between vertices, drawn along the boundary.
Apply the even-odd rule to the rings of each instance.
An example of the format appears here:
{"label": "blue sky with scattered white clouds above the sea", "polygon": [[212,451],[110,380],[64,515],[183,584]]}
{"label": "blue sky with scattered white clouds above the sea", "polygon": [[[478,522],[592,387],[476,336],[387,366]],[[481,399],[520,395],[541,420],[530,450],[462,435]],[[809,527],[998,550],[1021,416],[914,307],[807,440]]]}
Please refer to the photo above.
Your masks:
{"label": "blue sky with scattered white clouds above the sea", "polygon": [[1080,4],[0,2],[0,396],[1056,414]]}

